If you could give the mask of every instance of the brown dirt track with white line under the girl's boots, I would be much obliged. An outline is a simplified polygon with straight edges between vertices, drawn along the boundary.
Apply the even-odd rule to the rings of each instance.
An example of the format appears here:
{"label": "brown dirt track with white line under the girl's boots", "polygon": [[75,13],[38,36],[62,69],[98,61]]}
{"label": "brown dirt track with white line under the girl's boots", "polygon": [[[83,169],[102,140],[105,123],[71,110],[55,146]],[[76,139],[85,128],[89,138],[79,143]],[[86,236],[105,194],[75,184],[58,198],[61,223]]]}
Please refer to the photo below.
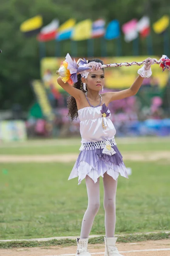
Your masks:
{"label": "brown dirt track with white line under the girl's boots", "polygon": [[[116,243],[116,246],[124,256],[169,256],[170,240],[141,241],[136,243]],[[0,255],[3,256],[55,256],[61,254],[76,254],[77,246],[61,247],[35,247],[1,249]],[[90,253],[95,256],[104,255],[105,244],[88,244]],[[99,254],[98,254],[99,253]],[[101,254],[102,253],[102,254]],[[92,254],[93,255],[93,254]]]}

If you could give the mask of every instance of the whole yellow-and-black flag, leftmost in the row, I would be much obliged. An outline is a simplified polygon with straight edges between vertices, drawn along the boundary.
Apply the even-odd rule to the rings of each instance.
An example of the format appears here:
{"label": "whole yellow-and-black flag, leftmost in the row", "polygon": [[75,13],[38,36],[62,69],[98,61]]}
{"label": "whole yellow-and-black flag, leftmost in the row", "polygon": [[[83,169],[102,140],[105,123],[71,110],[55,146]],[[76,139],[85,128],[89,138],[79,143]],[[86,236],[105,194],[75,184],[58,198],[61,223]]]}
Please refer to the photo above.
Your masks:
{"label": "whole yellow-and-black flag, leftmost in the row", "polygon": [[25,20],[20,25],[20,31],[27,37],[37,35],[42,27],[42,16],[37,15],[31,19]]}

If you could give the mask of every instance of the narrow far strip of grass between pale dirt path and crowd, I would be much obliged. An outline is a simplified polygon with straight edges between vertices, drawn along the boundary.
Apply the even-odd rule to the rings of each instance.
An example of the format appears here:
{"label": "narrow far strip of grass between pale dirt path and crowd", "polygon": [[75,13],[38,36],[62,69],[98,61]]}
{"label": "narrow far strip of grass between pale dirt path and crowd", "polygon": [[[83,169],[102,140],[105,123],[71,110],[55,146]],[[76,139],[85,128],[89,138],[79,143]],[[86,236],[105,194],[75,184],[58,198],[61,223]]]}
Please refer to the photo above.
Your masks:
{"label": "narrow far strip of grass between pale dirt path and crowd", "polygon": [[[35,140],[24,143],[0,144],[0,155],[33,155],[33,154],[63,154],[78,153],[81,139],[66,140]],[[120,151],[170,151],[170,137],[166,138],[116,138]]]}

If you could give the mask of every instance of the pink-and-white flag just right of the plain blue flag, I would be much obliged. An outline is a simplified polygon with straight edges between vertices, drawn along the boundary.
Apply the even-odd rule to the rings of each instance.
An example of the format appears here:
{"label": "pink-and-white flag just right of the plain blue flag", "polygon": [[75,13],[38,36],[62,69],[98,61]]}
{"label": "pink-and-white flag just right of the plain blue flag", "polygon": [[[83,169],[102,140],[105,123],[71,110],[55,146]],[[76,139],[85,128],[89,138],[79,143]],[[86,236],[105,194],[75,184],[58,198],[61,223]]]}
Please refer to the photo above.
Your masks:
{"label": "pink-and-white flag just right of the plain blue flag", "polygon": [[138,37],[137,23],[138,21],[136,19],[132,19],[122,26],[122,31],[125,34],[126,42],[133,41]]}

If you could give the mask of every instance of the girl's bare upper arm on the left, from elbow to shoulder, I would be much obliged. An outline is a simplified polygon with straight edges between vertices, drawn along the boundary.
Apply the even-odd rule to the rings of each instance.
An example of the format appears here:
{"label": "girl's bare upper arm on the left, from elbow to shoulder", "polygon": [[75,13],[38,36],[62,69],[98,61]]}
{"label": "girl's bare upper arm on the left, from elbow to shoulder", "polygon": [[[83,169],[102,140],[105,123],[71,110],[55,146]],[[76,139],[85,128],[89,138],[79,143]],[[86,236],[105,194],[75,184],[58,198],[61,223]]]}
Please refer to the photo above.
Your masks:
{"label": "girl's bare upper arm on the left, from elbow to shoulder", "polygon": [[68,83],[64,83],[61,79],[61,77],[59,76],[57,78],[57,83],[66,91],[68,92],[71,96],[74,97],[74,99],[80,99],[82,97],[82,95],[84,94],[82,92],[82,90],[79,90],[75,87],[73,87],[72,85],[68,84]]}

